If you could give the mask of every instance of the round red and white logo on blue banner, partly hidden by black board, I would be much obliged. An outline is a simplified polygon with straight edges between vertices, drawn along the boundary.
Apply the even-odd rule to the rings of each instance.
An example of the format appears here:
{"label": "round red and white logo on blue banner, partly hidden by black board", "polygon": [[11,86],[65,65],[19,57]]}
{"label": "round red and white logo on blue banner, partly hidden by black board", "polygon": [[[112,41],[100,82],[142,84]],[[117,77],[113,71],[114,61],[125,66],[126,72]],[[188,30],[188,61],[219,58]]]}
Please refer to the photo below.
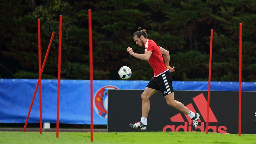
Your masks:
{"label": "round red and white logo on blue banner, partly hidden by black board", "polygon": [[93,98],[93,108],[102,118],[108,118],[108,90],[119,89],[115,86],[104,86],[100,88]]}

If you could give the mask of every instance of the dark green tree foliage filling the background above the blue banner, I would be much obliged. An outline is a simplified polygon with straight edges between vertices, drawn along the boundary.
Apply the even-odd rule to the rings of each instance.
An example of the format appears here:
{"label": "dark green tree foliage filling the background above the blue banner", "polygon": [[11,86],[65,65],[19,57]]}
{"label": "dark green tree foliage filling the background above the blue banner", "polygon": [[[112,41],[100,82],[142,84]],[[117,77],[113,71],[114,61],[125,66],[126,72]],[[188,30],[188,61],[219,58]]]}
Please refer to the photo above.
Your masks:
{"label": "dark green tree foliage filling the background above the blue banner", "polygon": [[243,23],[243,81],[256,81],[256,1],[254,0],[16,0],[0,2],[0,77],[38,77],[37,19],[41,21],[42,62],[54,31],[43,79],[56,79],[59,15],[62,28],[62,79],[89,79],[88,9],[92,10],[94,79],[118,80],[129,66],[130,80],[149,80],[146,61],[130,56],[144,49],[132,35],[148,38],[170,52],[174,80],[208,80],[210,30],[214,30],[213,81],[238,81],[239,23]]}

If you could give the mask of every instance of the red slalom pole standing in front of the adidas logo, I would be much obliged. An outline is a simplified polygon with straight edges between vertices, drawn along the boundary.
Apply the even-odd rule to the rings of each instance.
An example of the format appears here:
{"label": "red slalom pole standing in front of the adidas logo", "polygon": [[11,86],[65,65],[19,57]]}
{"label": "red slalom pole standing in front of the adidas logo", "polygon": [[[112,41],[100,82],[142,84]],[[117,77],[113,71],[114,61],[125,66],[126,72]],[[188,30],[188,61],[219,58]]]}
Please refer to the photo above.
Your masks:
{"label": "red slalom pole standing in front of the adidas logo", "polygon": [[209,126],[209,107],[210,107],[211,70],[212,70],[212,37],[213,37],[212,35],[213,35],[213,29],[211,29],[211,39],[210,39],[210,59],[209,59],[209,77],[208,77],[206,134],[208,134],[208,126]]}

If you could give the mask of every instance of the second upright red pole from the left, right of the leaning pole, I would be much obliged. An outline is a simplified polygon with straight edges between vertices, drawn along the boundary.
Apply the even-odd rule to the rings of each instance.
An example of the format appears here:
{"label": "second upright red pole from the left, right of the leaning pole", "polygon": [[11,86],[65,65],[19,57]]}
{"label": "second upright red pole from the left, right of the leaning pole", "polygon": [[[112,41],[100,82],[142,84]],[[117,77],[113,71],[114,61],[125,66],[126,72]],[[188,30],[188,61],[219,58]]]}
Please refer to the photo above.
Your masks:
{"label": "second upright red pole from the left, right of the leaning pole", "polygon": [[59,26],[58,94],[57,94],[56,138],[59,137],[61,38],[62,38],[62,15],[60,15],[60,26]]}

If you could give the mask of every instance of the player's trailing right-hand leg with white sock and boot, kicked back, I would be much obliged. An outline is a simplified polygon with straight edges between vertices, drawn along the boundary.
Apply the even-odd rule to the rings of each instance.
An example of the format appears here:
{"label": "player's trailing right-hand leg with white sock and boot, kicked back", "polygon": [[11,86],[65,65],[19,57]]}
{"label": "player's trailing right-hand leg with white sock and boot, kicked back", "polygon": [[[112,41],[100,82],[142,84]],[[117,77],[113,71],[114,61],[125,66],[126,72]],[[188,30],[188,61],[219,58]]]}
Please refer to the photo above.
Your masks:
{"label": "player's trailing right-hand leg with white sock and boot, kicked back", "polygon": [[200,115],[198,113],[190,111],[187,107],[184,106],[183,103],[174,100],[174,92],[164,96],[164,98],[169,106],[176,108],[177,110],[183,112],[184,114],[187,114],[191,118],[192,129],[195,130],[198,125],[198,119]]}

